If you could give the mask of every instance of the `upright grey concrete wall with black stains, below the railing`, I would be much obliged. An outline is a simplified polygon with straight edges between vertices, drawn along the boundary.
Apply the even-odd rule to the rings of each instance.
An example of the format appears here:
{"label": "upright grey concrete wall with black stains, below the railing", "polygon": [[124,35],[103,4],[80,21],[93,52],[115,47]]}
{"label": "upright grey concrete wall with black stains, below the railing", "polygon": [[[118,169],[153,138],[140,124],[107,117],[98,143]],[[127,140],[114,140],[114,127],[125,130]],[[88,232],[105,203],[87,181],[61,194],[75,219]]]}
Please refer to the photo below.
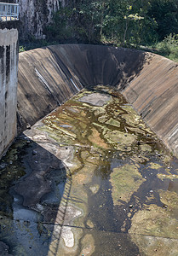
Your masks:
{"label": "upright grey concrete wall with black stains, below the railing", "polygon": [[16,135],[18,31],[0,29],[0,156]]}

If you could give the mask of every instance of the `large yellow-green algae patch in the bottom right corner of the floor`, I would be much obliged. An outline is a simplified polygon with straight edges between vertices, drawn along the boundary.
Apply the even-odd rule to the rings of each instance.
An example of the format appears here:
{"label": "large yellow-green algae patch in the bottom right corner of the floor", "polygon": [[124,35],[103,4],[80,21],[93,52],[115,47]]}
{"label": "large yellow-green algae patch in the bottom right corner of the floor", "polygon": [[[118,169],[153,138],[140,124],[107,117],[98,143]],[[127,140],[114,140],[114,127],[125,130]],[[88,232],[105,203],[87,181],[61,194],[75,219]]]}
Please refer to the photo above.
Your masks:
{"label": "large yellow-green algae patch in the bottom right corner of the floor", "polygon": [[136,212],[131,219],[129,234],[146,255],[176,255],[178,195],[165,190],[158,193],[163,207],[151,204]]}

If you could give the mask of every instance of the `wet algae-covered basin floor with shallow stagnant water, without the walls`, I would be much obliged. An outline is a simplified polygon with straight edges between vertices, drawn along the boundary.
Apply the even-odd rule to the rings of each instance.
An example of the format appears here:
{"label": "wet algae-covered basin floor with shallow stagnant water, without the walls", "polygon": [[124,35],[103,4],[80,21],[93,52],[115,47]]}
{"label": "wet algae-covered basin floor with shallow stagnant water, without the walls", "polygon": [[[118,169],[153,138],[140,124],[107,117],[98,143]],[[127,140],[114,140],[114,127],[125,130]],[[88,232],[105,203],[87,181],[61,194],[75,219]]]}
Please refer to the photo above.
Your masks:
{"label": "wet algae-covered basin floor with shallow stagnant water, without the walls", "polygon": [[0,162],[1,255],[178,255],[178,161],[116,90],[83,90]]}

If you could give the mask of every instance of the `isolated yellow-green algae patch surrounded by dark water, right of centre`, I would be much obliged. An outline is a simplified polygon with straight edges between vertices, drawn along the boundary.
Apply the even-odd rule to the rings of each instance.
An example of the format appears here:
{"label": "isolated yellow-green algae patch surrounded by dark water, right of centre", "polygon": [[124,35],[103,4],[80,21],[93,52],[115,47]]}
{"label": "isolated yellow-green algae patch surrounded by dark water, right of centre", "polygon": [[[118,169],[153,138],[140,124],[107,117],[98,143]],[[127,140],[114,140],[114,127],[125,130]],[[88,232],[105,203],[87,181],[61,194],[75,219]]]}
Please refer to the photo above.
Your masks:
{"label": "isolated yellow-green algae patch surrounded by dark water, right of centre", "polygon": [[146,179],[134,165],[126,164],[120,168],[114,168],[110,177],[113,204],[121,205],[123,202],[129,202],[131,195],[145,181]]}

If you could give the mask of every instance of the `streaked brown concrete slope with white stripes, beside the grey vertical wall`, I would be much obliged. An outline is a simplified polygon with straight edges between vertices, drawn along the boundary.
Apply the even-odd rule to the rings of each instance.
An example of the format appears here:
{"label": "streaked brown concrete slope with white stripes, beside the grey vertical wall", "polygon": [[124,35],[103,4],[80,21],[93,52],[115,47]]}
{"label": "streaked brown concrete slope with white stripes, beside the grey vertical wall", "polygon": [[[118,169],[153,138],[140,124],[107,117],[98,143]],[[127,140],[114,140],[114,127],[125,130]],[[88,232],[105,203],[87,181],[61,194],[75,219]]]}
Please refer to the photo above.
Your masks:
{"label": "streaked brown concrete slope with white stripes, beside the grey vertical wall", "polygon": [[26,130],[83,88],[78,77],[47,49],[20,54],[18,120]]}

